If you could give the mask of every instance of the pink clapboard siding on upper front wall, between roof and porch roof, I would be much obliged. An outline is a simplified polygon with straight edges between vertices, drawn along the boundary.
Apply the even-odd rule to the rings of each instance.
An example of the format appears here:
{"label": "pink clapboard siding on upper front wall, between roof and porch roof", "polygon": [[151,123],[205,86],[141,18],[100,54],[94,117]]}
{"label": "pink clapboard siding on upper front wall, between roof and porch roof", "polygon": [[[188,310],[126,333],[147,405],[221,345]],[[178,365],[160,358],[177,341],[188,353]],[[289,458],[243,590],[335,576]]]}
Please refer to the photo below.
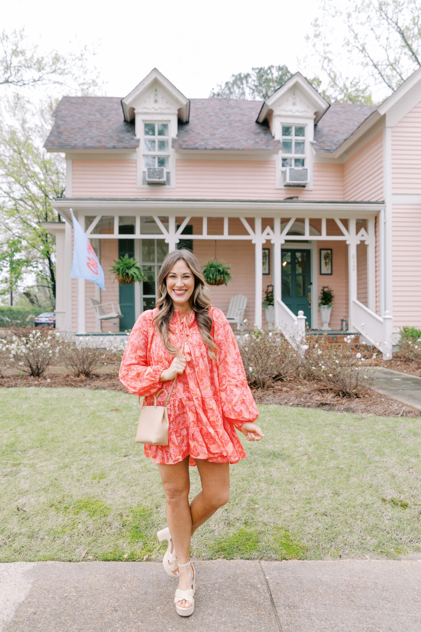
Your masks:
{"label": "pink clapboard siding on upper front wall, between roof and porch roof", "polygon": [[176,187],[137,188],[135,160],[73,160],[73,197],[343,199],[343,166],[314,164],[314,188],[275,188],[274,161],[177,160]]}

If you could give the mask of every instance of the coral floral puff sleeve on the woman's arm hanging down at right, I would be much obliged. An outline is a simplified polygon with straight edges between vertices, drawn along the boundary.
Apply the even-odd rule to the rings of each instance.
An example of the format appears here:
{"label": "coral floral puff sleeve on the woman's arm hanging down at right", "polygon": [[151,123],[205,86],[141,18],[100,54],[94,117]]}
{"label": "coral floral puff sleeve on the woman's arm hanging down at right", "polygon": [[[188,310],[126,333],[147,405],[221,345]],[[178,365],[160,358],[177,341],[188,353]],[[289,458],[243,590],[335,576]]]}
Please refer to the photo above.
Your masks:
{"label": "coral floral puff sleeve on the woman's arm hanging down at right", "polygon": [[219,349],[218,383],[222,412],[228,422],[240,429],[243,423],[254,422],[258,409],[253,399],[239,346],[228,320],[218,308],[212,310],[213,339]]}

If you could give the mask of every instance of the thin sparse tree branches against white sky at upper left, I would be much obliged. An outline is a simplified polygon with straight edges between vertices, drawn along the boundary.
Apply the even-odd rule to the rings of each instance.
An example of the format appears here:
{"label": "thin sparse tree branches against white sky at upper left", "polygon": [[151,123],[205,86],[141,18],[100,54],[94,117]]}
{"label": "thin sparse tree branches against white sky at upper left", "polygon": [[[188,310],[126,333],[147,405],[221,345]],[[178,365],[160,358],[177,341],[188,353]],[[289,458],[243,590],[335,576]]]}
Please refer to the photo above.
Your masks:
{"label": "thin sparse tree branches against white sky at upper left", "polygon": [[0,85],[15,88],[56,86],[73,88],[86,94],[98,88],[98,72],[90,68],[92,53],[85,46],[80,52],[61,55],[57,51],[38,54],[38,47],[30,44],[25,31],[14,30],[0,35]]}

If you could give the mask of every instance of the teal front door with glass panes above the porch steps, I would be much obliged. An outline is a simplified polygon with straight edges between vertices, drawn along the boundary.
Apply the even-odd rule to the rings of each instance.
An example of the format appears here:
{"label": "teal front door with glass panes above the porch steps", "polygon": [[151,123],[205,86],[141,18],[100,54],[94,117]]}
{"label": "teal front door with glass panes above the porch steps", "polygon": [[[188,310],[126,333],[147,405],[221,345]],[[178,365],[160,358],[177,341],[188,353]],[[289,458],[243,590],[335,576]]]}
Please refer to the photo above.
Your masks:
{"label": "teal front door with glass panes above the porch steps", "polygon": [[311,251],[282,248],[282,301],[298,315],[304,312],[311,327]]}

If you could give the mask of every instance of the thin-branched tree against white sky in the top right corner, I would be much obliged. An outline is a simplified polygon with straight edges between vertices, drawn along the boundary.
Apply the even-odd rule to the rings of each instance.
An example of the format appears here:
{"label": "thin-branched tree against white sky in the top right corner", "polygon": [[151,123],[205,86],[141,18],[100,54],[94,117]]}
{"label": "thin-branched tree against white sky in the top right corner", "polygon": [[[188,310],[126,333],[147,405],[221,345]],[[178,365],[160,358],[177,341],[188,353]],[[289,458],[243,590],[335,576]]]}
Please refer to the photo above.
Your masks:
{"label": "thin-branched tree against white sky in the top right corner", "polygon": [[[421,65],[421,4],[418,0],[322,0],[311,42],[332,100],[372,102],[384,98]],[[345,38],[331,33],[345,28]],[[344,72],[356,68],[356,76]],[[340,70],[342,68],[342,70]]]}

